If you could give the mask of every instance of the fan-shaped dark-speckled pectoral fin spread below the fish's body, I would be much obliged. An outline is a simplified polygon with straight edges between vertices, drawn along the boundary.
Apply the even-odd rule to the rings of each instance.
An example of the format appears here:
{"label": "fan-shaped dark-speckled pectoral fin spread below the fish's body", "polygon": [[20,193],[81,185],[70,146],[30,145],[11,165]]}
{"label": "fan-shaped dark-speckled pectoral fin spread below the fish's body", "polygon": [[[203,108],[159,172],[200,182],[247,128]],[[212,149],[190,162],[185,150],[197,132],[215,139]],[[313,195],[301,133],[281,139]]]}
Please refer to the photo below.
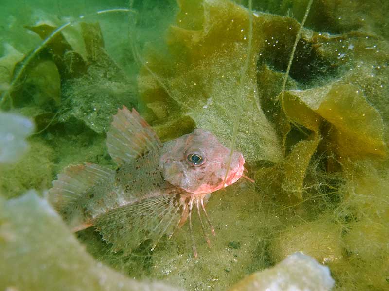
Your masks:
{"label": "fan-shaped dark-speckled pectoral fin spread below the fish's body", "polygon": [[129,253],[147,239],[153,241],[153,250],[163,234],[173,234],[183,211],[180,195],[162,194],[109,210],[94,225],[114,251]]}

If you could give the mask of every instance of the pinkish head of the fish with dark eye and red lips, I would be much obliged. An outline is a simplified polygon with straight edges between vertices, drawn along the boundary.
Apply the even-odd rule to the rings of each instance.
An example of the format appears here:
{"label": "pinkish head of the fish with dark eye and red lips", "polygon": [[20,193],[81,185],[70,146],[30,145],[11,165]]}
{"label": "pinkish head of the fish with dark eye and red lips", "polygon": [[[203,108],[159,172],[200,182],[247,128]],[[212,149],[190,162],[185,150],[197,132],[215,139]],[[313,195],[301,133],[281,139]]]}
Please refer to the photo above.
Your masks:
{"label": "pinkish head of the fish with dark eye and red lips", "polygon": [[211,132],[195,129],[164,143],[159,165],[169,183],[189,193],[207,194],[242,177],[245,159],[238,151],[230,153]]}

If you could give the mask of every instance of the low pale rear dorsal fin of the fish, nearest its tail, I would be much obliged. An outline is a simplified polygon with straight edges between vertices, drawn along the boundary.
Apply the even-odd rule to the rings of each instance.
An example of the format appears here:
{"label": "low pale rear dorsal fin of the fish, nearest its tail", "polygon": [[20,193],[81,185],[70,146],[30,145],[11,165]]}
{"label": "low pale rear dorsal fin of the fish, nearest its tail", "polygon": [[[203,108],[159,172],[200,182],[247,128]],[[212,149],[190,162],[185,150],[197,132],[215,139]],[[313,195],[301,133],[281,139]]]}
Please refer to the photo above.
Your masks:
{"label": "low pale rear dorsal fin of the fish, nearest its tail", "polygon": [[62,210],[77,200],[96,183],[112,177],[115,171],[92,163],[70,165],[53,181],[49,201],[57,210]]}

